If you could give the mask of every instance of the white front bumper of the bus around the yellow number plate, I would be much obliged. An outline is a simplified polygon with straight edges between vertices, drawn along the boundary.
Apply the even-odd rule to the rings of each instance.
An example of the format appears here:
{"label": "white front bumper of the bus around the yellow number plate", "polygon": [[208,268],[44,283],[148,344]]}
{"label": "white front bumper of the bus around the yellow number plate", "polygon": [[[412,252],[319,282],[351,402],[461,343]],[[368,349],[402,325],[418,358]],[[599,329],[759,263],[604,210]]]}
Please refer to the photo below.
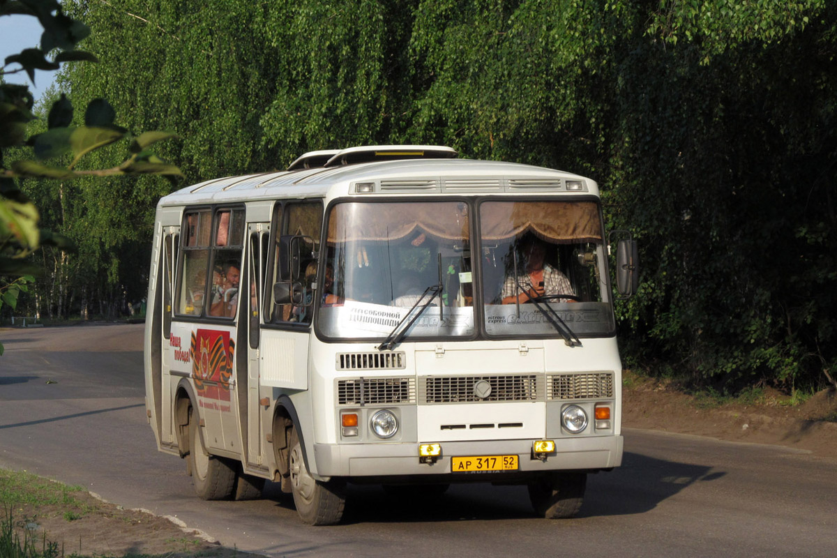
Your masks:
{"label": "white front bumper of the bus around the yellow number plate", "polygon": [[[561,470],[599,470],[622,464],[622,436],[562,438],[556,451],[542,458],[532,454],[533,440],[445,442],[435,463],[422,463],[418,443],[314,444],[316,477],[401,477],[451,474],[451,458],[468,456],[518,456],[517,474],[541,474]],[[311,456],[309,456],[309,462]],[[314,467],[315,466],[316,469]]]}

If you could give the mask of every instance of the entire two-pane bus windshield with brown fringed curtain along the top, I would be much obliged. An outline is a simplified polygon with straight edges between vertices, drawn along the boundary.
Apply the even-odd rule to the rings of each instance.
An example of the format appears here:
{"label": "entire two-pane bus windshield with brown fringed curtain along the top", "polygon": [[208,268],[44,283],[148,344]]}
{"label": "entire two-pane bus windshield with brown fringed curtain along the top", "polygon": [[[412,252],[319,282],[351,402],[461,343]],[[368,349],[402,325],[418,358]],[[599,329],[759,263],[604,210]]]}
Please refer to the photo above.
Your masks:
{"label": "entire two-pane bus windshield with brown fringed curtain along the top", "polygon": [[331,207],[321,333],[381,340],[406,327],[399,339],[473,337],[476,298],[488,336],[613,335],[596,202],[486,200],[473,243],[470,207]]}

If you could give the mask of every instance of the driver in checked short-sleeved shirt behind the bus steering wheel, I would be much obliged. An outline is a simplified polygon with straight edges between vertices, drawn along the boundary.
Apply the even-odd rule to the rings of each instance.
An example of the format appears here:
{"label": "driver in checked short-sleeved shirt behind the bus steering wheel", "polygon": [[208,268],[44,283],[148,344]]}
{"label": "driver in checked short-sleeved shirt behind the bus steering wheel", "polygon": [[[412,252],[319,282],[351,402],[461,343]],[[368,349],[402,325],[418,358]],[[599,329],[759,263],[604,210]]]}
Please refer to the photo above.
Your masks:
{"label": "driver in checked short-sleeved shirt behind the bus steering wheel", "polygon": [[[573,285],[570,284],[567,276],[547,264],[544,260],[547,255],[547,246],[538,238],[527,237],[521,242],[521,253],[526,259],[526,274],[517,276],[520,287],[515,282],[514,275],[506,277],[501,293],[504,305],[513,305],[518,302],[525,303],[540,296],[556,294],[568,294],[575,296]],[[568,299],[559,299],[565,302]]]}

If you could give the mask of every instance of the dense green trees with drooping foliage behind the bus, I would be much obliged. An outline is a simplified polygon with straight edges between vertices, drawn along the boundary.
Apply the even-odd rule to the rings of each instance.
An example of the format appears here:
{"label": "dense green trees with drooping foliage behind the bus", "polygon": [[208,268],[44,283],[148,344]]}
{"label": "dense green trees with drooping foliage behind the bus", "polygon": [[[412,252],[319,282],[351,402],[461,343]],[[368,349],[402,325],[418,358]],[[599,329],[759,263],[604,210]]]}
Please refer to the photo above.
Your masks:
{"label": "dense green trees with drooping foliage behind the bus", "polygon": [[[177,131],[163,156],[187,182],[398,142],[577,171],[599,182],[609,224],[641,242],[641,292],[619,307],[634,366],[730,389],[816,387],[834,370],[835,3],[66,8],[97,30],[85,49],[102,62],[69,65],[62,90],[76,104],[105,95],[129,128]],[[129,282],[147,269],[164,192],[142,179],[73,188],[61,199],[79,214],[54,204],[80,245],[66,265],[138,299]]]}

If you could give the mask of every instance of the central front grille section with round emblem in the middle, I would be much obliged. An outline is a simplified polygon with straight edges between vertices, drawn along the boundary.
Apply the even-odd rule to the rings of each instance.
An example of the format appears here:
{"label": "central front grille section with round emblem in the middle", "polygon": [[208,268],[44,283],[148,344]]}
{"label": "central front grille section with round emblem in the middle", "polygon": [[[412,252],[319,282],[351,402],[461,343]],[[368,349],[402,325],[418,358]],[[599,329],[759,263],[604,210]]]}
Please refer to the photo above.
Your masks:
{"label": "central front grille section with round emblem in the middle", "polygon": [[[537,375],[509,376],[429,376],[422,378],[426,403],[469,403],[502,401],[537,401]],[[485,381],[490,392],[478,397],[475,386]],[[480,387],[485,387],[481,384]],[[478,390],[479,391],[479,390]]]}

